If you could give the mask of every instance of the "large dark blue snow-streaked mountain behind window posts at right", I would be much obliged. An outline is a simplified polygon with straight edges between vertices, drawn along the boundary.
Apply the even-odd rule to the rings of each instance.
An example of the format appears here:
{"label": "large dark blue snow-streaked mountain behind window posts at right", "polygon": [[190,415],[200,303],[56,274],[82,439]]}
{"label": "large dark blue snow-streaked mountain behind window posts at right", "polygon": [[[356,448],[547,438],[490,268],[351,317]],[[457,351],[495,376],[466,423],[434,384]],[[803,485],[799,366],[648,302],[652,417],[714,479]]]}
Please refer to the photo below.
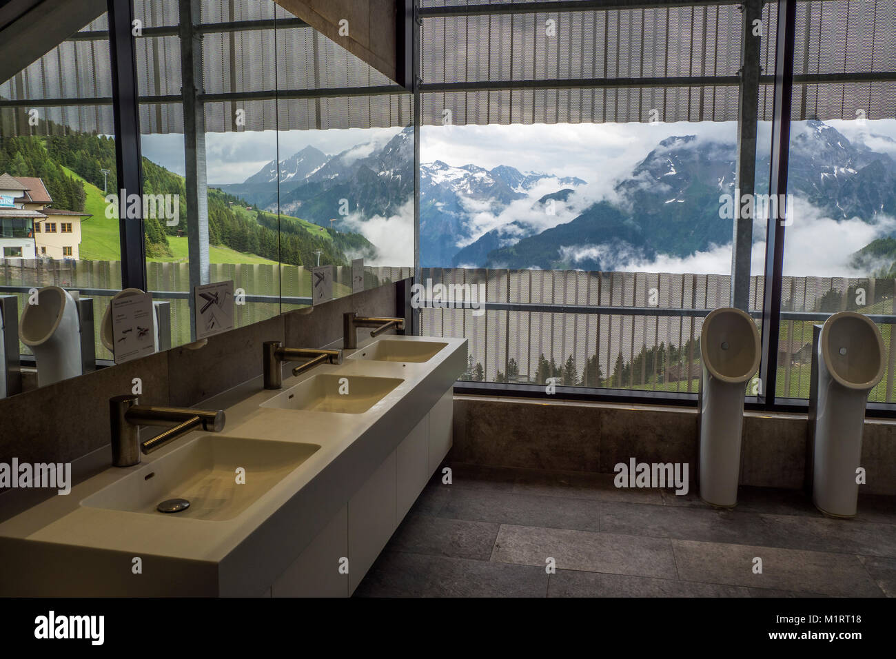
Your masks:
{"label": "large dark blue snow-streaked mountain behind window posts at right", "polygon": [[[609,269],[634,257],[690,256],[731,241],[719,195],[734,191],[737,147],[669,137],[616,185],[619,202],[593,204],[573,221],[489,252],[483,267]],[[788,193],[835,220],[896,215],[896,162],[811,120],[791,134]],[[757,193],[768,190],[768,157]]]}

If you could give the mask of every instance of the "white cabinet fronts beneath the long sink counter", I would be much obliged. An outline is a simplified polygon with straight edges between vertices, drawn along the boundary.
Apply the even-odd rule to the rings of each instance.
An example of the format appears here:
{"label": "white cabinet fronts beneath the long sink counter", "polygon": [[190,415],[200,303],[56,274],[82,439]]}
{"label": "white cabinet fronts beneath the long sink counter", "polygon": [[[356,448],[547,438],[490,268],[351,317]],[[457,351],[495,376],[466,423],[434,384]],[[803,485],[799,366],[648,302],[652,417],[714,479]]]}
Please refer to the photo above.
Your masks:
{"label": "white cabinet fronts beneath the long sink counter", "polygon": [[[453,387],[271,587],[274,597],[355,592],[452,446]],[[349,559],[348,576],[339,570]]]}

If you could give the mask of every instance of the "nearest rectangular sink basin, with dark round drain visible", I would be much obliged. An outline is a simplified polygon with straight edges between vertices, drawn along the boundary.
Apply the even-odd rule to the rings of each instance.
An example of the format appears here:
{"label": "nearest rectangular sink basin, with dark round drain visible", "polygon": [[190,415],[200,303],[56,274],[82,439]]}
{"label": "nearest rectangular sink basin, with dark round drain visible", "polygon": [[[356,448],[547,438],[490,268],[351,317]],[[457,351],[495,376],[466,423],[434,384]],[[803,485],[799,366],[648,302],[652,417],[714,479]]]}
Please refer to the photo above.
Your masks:
{"label": "nearest rectangular sink basin, with dark round drain visible", "polygon": [[[319,448],[316,444],[206,435],[145,464],[82,500],[81,505],[146,515],[232,519]],[[237,483],[238,467],[246,470],[243,484]],[[159,512],[156,507],[168,499],[186,499],[190,506],[177,513]]]}

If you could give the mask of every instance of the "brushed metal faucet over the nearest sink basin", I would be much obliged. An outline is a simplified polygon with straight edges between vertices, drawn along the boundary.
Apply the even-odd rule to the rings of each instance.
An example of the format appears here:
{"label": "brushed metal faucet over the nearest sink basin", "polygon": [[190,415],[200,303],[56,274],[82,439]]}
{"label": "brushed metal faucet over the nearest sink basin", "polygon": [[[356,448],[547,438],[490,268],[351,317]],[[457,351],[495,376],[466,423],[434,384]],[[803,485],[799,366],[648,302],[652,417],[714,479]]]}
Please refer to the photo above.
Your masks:
{"label": "brushed metal faucet over the nearest sink basin", "polygon": [[[141,405],[138,397],[130,394],[109,398],[109,417],[112,426],[112,464],[116,467],[140,464],[141,451],[150,454],[200,426],[207,432],[220,432],[225,421],[222,410]],[[176,425],[154,438],[140,441],[140,426],[167,426],[170,423]]]}

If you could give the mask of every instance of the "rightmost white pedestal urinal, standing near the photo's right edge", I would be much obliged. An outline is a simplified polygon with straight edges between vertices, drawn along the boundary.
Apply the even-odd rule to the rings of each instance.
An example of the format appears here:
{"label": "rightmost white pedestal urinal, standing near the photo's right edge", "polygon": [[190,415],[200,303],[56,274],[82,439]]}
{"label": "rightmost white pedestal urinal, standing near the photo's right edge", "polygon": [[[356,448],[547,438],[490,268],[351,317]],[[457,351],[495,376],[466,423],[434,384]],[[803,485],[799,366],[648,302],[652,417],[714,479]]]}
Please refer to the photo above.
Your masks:
{"label": "rightmost white pedestal urinal, standing near the photo's right edge", "polygon": [[814,349],[812,501],[826,515],[851,517],[857,511],[865,407],[883,377],[883,336],[868,316],[843,311],[824,322]]}

